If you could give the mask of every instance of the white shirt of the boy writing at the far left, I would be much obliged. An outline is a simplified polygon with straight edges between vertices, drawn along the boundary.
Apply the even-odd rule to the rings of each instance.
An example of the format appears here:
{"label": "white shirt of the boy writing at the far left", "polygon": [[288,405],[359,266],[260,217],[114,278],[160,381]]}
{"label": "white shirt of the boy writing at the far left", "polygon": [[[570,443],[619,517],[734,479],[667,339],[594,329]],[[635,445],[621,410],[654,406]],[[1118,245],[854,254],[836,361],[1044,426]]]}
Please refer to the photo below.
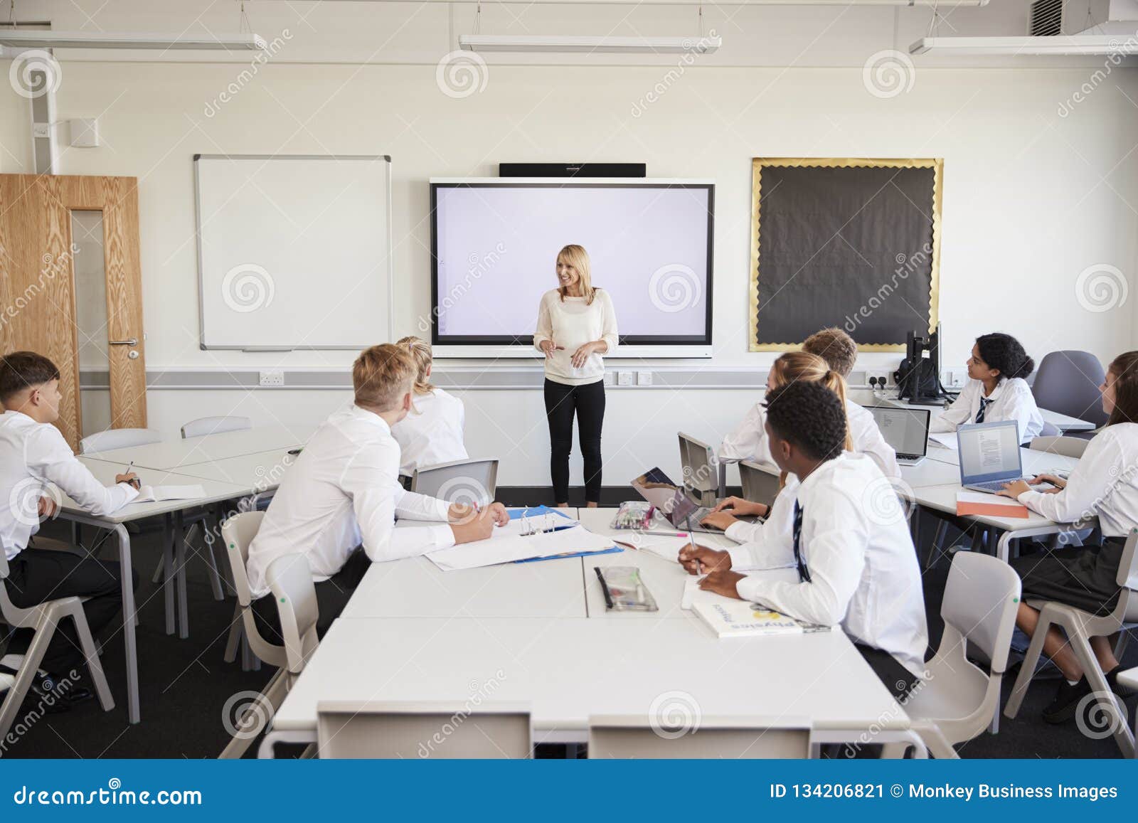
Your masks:
{"label": "white shirt of the boy writing at the far left", "polygon": [[36,507],[49,483],[96,516],[118,511],[139,496],[130,484],[99,483],[55,426],[6,411],[0,414],[0,541],[9,560],[40,530]]}

